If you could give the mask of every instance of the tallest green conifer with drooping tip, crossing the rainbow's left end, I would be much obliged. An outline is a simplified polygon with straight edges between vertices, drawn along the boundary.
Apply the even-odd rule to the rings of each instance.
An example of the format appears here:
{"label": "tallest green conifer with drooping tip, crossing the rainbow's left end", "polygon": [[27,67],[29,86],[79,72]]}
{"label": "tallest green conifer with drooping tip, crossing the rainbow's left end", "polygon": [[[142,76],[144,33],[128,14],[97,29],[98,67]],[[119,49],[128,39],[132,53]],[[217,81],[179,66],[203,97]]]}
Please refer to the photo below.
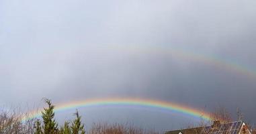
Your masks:
{"label": "tallest green conifer with drooping tip, crossing the rainbow's left end", "polygon": [[54,106],[47,98],[45,99],[45,103],[48,105],[48,108],[44,108],[42,112],[44,134],[56,134],[58,133],[58,125],[54,119]]}

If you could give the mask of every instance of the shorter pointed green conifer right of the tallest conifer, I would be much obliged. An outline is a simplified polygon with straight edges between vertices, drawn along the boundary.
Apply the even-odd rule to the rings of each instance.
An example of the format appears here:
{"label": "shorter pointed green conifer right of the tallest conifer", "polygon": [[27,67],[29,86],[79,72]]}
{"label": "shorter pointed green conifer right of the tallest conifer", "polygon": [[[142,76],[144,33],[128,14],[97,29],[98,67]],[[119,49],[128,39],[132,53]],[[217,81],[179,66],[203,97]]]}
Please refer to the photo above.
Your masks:
{"label": "shorter pointed green conifer right of the tallest conifer", "polygon": [[73,121],[71,129],[73,134],[85,134],[84,125],[81,124],[81,116],[79,116],[78,111],[74,114],[76,119]]}

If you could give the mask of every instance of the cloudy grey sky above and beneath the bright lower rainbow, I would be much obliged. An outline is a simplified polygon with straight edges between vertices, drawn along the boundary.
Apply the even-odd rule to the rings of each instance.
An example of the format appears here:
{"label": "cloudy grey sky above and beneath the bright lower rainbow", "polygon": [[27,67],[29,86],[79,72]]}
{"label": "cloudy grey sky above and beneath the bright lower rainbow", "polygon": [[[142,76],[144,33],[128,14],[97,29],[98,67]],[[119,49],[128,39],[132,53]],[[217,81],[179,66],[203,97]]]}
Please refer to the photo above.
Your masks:
{"label": "cloudy grey sky above and beneath the bright lower rainbow", "polygon": [[[256,123],[256,1],[0,1],[0,106],[89,98],[165,100]],[[58,113],[71,119],[75,109]],[[79,109],[86,125],[179,129],[157,109]]]}

